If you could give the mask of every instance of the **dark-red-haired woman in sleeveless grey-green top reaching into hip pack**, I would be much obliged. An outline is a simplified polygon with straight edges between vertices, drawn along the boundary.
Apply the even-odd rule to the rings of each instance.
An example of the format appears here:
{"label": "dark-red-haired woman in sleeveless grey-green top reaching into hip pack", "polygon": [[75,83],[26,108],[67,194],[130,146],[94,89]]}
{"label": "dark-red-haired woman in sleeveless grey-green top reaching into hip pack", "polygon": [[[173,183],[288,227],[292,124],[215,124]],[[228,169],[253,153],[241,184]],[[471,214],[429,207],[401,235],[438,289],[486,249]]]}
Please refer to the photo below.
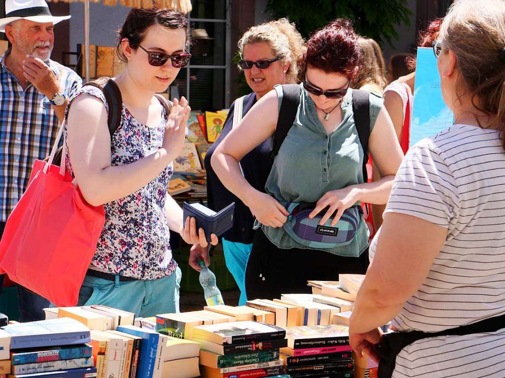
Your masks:
{"label": "dark-red-haired woman in sleeveless grey-green top reaching into hip pack", "polygon": [[[267,194],[243,179],[238,161],[275,132],[282,87],[275,87],[245,115],[217,148],[212,163],[223,183],[262,224],[255,234],[246,270],[247,296],[279,298],[310,292],[307,280],[337,280],[339,273],[365,273],[368,228],[361,214],[347,245],[316,249],[286,232],[288,202],[317,203],[310,218],[337,223],[360,202],[386,203],[403,157],[382,98],[370,94],[369,149],[383,174],[363,182],[363,149],[352,114],[349,88],[361,64],[358,37],[347,20],[336,20],[307,43],[304,82],[295,121],[276,156]],[[287,226],[287,225],[286,225]]]}

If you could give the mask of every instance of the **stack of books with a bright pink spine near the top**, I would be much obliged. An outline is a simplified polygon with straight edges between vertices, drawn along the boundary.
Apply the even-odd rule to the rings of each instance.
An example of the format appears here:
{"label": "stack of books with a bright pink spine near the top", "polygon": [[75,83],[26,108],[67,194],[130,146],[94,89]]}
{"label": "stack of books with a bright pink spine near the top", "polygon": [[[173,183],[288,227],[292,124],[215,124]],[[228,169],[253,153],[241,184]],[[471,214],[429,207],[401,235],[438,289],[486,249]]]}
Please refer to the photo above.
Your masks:
{"label": "stack of books with a bright pink spine near the top", "polygon": [[292,327],[281,349],[286,373],[292,378],[352,378],[354,360],[349,329],[340,325]]}

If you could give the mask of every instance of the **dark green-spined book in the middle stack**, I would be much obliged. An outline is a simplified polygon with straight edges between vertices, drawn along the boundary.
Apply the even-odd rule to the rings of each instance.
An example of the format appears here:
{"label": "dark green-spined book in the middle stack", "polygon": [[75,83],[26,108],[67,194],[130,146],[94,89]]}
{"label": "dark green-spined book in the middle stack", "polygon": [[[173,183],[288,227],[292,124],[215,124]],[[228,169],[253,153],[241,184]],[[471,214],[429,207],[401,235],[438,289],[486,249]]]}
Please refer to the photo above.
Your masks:
{"label": "dark green-spined book in the middle stack", "polygon": [[252,363],[270,362],[279,359],[279,350],[222,355],[208,350],[200,350],[200,365],[214,368],[250,365]]}

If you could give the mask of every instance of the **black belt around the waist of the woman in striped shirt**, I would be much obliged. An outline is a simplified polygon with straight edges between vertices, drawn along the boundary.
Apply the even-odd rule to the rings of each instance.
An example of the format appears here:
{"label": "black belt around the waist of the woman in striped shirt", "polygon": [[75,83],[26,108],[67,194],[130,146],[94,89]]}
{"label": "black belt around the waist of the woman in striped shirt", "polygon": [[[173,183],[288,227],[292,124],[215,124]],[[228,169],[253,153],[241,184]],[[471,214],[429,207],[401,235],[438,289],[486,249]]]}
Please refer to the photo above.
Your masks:
{"label": "black belt around the waist of the woman in striped shirt", "polygon": [[505,314],[481,320],[477,323],[466,326],[450,328],[439,332],[393,332],[382,336],[377,344],[377,353],[380,357],[378,376],[379,378],[390,378],[396,365],[396,356],[407,345],[421,339],[439,336],[463,336],[476,333],[496,332],[505,328]]}

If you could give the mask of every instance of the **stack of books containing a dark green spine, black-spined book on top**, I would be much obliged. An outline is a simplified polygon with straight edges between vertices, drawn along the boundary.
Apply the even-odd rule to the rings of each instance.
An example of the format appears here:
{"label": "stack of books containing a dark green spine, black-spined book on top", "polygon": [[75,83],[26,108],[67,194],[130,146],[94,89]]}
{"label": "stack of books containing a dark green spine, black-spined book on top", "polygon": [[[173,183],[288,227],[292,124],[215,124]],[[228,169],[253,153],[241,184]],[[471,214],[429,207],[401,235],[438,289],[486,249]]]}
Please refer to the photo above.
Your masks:
{"label": "stack of books containing a dark green spine, black-spined book on top", "polygon": [[261,378],[285,373],[280,348],[286,331],[271,324],[243,321],[197,326],[203,378]]}

